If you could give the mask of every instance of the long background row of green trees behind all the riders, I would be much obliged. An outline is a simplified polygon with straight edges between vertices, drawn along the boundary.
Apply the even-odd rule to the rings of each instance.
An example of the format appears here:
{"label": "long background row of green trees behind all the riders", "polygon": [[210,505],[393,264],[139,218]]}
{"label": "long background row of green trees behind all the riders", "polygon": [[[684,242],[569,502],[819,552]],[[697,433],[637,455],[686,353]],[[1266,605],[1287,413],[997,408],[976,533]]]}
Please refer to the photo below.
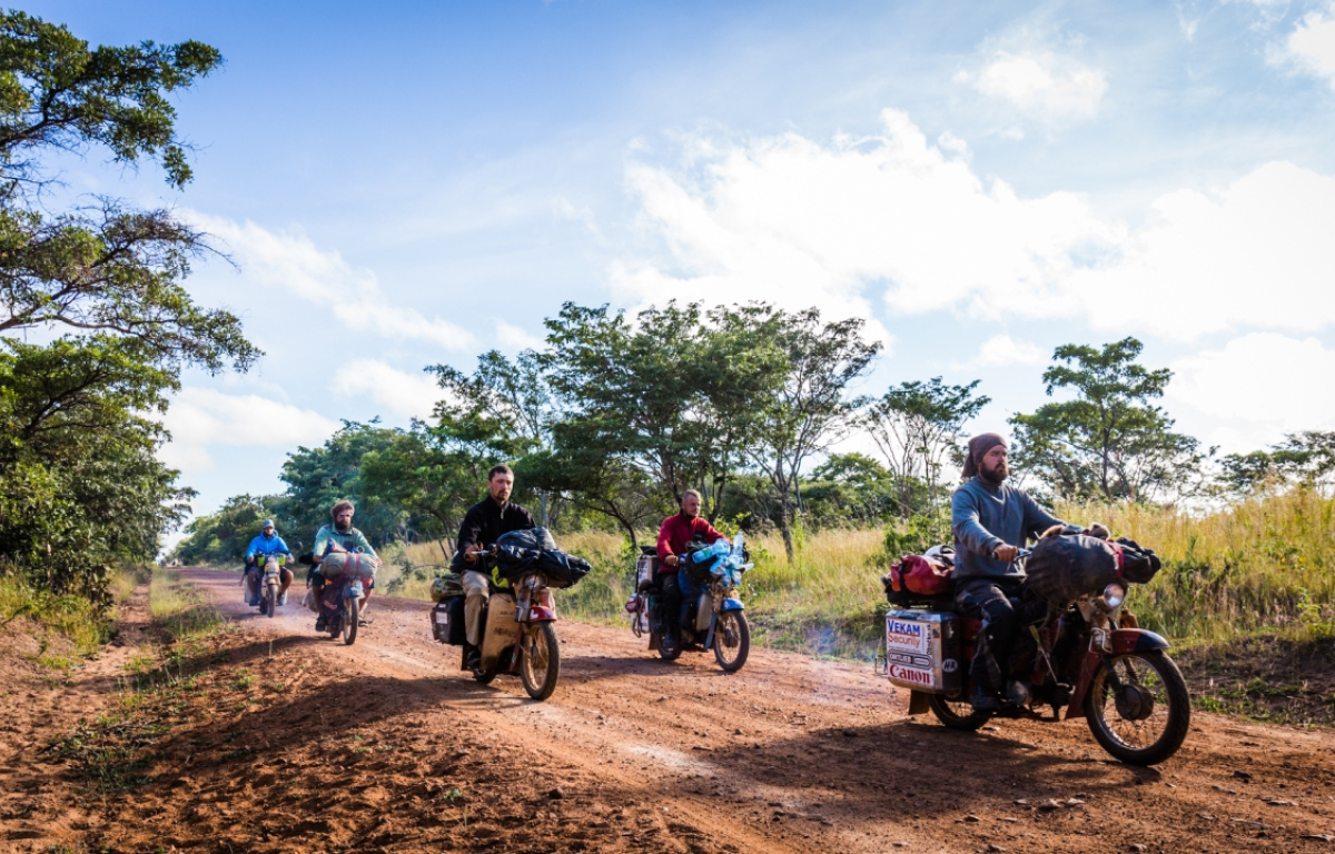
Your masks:
{"label": "long background row of green trees behind all the riders", "polygon": [[[195,519],[176,556],[238,559],[267,516],[308,538],[346,496],[380,542],[439,540],[446,559],[498,462],[547,524],[619,530],[631,544],[692,487],[714,522],[778,530],[789,559],[820,527],[888,526],[905,544],[948,536],[965,426],[989,403],[977,380],[857,395],[880,346],[861,320],[826,322],[814,308],[669,303],[631,319],[567,303],[546,328],[543,348],[513,360],[493,351],[470,374],[427,368],[442,394],[430,419],[346,423],[288,456],[286,494],[238,496]],[[1013,468],[1031,491],[1149,503],[1328,470],[1326,434],[1215,460],[1173,431],[1157,403],[1171,372],[1144,367],[1140,352],[1132,338],[1053,352],[1041,379],[1063,400],[1009,420]],[[874,456],[830,452],[858,432]]]}

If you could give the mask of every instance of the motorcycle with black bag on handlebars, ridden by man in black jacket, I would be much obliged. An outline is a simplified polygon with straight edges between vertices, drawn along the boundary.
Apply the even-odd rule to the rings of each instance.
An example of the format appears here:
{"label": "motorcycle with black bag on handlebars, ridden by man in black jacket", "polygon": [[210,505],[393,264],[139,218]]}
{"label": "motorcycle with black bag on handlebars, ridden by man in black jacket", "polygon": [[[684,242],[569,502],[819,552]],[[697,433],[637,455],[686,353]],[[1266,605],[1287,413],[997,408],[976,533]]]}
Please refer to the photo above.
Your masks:
{"label": "motorcycle with black bag on handlebars, ridden by man in black jacket", "polygon": [[[478,548],[475,571],[499,568],[505,586],[487,579],[490,592],[482,610],[481,661],[469,667],[467,630],[462,572],[438,575],[431,586],[437,604],[431,610],[431,634],[439,643],[461,649],[459,670],[473,673],[482,685],[501,674],[518,675],[525,693],[545,701],[557,690],[561,645],[557,639],[557,604],[553,588],[569,587],[589,571],[589,564],[559,551],[545,528],[503,534],[497,546]],[[465,568],[457,564],[455,568]]]}

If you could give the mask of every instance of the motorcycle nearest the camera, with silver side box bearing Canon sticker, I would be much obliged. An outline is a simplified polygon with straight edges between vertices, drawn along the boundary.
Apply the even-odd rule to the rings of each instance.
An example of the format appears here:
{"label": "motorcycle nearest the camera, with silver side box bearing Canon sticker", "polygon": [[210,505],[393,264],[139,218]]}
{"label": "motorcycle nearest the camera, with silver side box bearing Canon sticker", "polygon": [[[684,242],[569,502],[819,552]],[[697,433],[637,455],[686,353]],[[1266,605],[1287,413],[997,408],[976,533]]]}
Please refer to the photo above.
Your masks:
{"label": "motorcycle nearest the camera, with silver side box bearing Canon sticker", "polygon": [[1167,654],[1168,642],[1123,611],[1128,590],[1124,580],[1111,583],[1053,608],[1057,612],[1040,623],[1021,626],[1032,643],[1028,655],[1016,658],[1028,658],[1028,665],[1016,669],[1012,659],[1013,682],[997,713],[969,703],[969,662],[983,622],[959,615],[952,602],[888,610],[876,669],[910,691],[910,715],[932,711],[945,726],[971,731],[993,715],[1053,722],[1084,717],[1109,754],[1128,765],[1156,765],[1187,738],[1191,697]]}

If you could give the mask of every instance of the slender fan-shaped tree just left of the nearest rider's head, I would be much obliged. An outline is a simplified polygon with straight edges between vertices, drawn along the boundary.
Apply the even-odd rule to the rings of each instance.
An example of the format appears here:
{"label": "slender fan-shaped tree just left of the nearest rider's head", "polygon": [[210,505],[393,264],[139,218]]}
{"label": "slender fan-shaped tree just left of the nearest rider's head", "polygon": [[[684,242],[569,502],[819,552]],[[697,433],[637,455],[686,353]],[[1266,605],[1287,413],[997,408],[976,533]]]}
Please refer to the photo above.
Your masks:
{"label": "slender fan-shaped tree just left of the nearest rider's head", "polygon": [[965,422],[992,402],[975,394],[979,382],[947,386],[940,376],[925,383],[910,380],[892,387],[868,407],[862,424],[898,478],[900,518],[909,519],[922,510],[918,484],[925,487],[925,503],[936,503],[941,467],[948,455],[957,452]]}

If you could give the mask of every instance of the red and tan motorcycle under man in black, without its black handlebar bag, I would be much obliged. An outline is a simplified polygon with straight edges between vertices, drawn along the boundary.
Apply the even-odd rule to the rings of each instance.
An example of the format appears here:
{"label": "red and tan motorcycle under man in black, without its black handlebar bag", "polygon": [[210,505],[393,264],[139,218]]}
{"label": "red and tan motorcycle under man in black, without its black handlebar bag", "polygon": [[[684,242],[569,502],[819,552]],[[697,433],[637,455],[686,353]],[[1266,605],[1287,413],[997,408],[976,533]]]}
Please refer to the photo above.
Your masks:
{"label": "red and tan motorcycle under man in black, without its black handlebar bag", "polygon": [[[494,548],[473,552],[479,571],[494,566]],[[518,675],[525,693],[545,701],[557,690],[561,674],[561,645],[553,623],[557,606],[541,571],[523,572],[509,586],[487,582],[490,596],[482,608],[481,662],[469,667],[465,630],[465,595],[458,575],[438,575],[433,584],[437,606],[431,611],[433,636],[439,643],[459,646],[459,670],[471,671],[482,685],[501,674]]]}

